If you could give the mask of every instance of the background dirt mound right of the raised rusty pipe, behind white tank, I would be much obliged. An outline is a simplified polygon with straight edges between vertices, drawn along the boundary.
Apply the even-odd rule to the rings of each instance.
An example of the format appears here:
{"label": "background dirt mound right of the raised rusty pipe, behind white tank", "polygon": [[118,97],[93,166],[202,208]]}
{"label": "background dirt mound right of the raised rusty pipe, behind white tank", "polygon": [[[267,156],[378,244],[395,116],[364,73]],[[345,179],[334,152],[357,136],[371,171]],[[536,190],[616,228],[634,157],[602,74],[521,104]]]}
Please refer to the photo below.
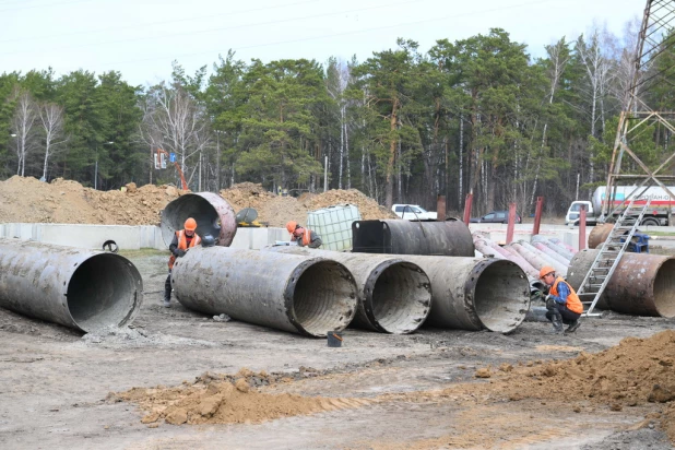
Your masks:
{"label": "background dirt mound right of the raised rusty pipe, behind white tank", "polygon": [[221,190],[221,196],[236,212],[245,208],[258,211],[258,221],[268,226],[284,227],[288,221],[304,223],[309,211],[336,204],[355,204],[364,220],[395,218],[395,214],[356,189],[330,190],[323,193],[304,193],[299,198],[280,197],[261,185],[242,182]]}

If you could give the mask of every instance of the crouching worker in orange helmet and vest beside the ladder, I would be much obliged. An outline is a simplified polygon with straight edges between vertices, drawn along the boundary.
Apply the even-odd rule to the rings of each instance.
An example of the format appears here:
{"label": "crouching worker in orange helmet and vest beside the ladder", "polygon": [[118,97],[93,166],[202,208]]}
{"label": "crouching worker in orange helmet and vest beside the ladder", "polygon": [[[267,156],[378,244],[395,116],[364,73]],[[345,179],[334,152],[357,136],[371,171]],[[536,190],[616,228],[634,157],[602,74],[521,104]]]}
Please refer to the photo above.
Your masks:
{"label": "crouching worker in orange helmet and vest beside the ladder", "polygon": [[583,312],[583,305],[579,296],[561,276],[556,276],[556,270],[550,265],[544,265],[540,271],[540,279],[550,286],[546,295],[546,319],[553,323],[554,333],[562,332],[562,323],[569,324],[568,333],[577,331],[581,322],[579,318]]}

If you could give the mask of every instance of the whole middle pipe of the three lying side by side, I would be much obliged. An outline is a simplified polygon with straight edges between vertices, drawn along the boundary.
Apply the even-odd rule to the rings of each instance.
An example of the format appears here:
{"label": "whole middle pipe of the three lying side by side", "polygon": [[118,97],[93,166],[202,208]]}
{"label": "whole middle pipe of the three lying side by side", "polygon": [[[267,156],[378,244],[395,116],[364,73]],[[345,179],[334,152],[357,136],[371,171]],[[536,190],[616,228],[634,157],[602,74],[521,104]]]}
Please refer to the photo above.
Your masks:
{"label": "whole middle pipe of the three lying side by side", "polygon": [[352,325],[384,333],[412,333],[431,309],[428,276],[403,257],[312,250],[298,246],[264,247],[262,251],[321,257],[344,264],[354,275],[359,293]]}

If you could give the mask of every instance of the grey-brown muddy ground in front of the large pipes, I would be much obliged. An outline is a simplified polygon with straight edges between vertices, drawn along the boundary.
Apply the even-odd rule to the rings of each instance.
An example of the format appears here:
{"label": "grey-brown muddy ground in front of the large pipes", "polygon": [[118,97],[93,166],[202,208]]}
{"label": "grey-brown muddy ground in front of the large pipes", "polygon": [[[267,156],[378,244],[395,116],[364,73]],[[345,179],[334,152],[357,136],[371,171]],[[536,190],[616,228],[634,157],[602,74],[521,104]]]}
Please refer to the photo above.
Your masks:
{"label": "grey-brown muddy ground in front of the large pipes", "polygon": [[[623,338],[649,338],[675,320],[608,313],[572,335],[525,322],[516,332],[422,329],[386,335],[347,329],[344,346],[242,322],[215,321],[174,301],[161,307],[166,254],[126,253],[145,299],[129,330],[81,335],[0,309],[0,448],[54,449],[671,449],[654,403],[603,403],[435,395],[505,363],[572,358]],[[333,411],[262,423],[143,424],[137,404],[110,392],[191,383],[241,368],[284,372],[260,392],[365,400]],[[253,386],[253,388],[256,388]],[[573,387],[570,387],[573,389]],[[466,392],[469,392],[466,394]],[[372,400],[370,402],[370,400]],[[377,400],[377,401],[376,401]]]}

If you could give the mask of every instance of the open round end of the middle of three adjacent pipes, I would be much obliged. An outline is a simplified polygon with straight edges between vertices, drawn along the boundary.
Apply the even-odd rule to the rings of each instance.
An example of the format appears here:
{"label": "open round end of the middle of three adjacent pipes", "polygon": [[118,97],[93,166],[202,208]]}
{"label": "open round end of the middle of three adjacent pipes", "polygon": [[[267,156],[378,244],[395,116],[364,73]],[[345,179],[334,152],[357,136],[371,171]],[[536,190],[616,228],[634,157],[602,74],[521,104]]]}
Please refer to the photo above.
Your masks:
{"label": "open round end of the middle of three adjacent pipes", "polygon": [[406,334],[417,330],[431,308],[429,277],[417,264],[388,260],[366,281],[364,309],[378,330]]}

